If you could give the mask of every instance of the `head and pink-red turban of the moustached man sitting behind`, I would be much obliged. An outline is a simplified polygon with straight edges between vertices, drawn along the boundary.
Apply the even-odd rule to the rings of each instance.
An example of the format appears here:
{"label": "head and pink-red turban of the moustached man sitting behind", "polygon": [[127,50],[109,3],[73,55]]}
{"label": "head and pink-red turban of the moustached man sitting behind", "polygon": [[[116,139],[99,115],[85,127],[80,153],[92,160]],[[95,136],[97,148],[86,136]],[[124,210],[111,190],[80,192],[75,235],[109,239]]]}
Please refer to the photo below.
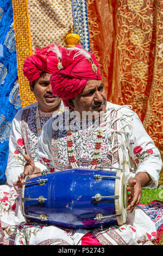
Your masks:
{"label": "head and pink-red turban of the moustached man sitting behind", "polygon": [[[57,44],[36,48],[35,54],[24,60],[23,73],[28,78],[30,89],[34,92],[42,111],[54,111],[61,100],[52,94],[49,79],[61,68],[61,55],[65,49]],[[47,86],[44,86],[45,83]]]}

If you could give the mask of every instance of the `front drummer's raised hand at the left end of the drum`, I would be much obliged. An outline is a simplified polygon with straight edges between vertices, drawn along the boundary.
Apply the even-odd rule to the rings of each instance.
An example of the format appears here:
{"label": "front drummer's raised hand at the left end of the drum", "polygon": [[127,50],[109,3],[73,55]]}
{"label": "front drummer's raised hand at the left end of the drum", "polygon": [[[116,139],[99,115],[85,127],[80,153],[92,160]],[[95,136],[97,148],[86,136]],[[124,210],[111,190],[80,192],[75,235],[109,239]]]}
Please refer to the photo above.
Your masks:
{"label": "front drummer's raised hand at the left end of the drum", "polygon": [[[24,178],[26,175],[33,174],[35,169],[39,170],[35,167],[34,161],[28,156],[27,154],[23,155],[24,159],[26,160],[26,164],[24,166],[24,172],[18,175],[18,180],[14,182],[14,187],[22,188]],[[40,170],[39,170],[40,171]],[[30,178],[37,176],[37,174],[30,175]]]}

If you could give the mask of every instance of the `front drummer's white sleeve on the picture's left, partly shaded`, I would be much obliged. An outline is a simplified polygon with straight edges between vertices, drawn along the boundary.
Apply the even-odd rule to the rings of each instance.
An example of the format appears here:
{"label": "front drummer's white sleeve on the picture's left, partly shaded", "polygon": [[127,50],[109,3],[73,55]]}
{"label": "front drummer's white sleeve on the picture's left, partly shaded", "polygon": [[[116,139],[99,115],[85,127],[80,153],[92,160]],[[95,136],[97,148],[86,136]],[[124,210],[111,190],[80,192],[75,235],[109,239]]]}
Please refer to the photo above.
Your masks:
{"label": "front drummer's white sleeve on the picture's left, partly shaded", "polygon": [[53,118],[49,119],[43,126],[41,136],[37,143],[36,157],[34,160],[35,166],[41,170],[48,170],[54,172],[51,153],[52,140],[52,122]]}

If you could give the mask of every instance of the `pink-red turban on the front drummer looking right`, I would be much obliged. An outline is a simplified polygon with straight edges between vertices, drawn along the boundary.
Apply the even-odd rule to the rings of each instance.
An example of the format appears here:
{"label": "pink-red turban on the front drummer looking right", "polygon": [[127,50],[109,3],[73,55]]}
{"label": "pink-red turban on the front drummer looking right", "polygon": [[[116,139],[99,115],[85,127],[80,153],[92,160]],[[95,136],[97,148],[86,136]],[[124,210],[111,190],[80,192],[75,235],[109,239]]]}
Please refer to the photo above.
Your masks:
{"label": "pink-red turban on the front drummer looking right", "polygon": [[[97,71],[92,70],[92,64],[97,67]],[[62,66],[57,73],[51,76],[51,86],[54,95],[62,100],[72,99],[79,95],[86,86],[88,80],[101,80],[99,65],[94,54],[83,49],[69,50],[62,58]]]}

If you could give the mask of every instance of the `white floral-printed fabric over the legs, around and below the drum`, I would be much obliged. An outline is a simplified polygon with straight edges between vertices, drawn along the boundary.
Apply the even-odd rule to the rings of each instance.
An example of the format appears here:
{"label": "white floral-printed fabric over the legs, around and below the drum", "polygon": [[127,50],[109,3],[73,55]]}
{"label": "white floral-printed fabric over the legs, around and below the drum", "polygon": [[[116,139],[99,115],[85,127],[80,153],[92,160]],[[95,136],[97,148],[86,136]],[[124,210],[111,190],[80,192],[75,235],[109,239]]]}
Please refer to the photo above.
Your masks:
{"label": "white floral-printed fabric over the legs, around and below the drum", "polygon": [[[20,191],[9,190],[9,186],[2,188],[0,237],[3,239],[0,242],[3,245],[80,245],[82,237],[89,232],[27,223],[22,216]],[[146,245],[156,238],[156,227],[154,220],[137,206],[132,214],[128,212],[126,224],[103,230],[97,228],[92,234],[102,245]]]}

